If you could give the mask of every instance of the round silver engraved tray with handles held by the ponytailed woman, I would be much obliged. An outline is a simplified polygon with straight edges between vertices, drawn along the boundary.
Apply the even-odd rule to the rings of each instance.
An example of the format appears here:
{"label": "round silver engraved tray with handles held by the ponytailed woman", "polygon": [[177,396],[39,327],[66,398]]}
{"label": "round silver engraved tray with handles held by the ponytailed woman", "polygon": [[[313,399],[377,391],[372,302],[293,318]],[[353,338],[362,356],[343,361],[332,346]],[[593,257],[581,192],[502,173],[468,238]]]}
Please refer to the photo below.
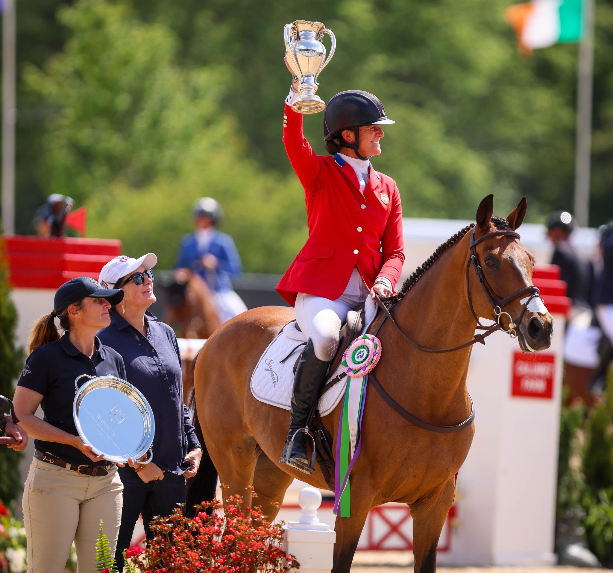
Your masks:
{"label": "round silver engraved tray with handles held by the ponytailed woman", "polygon": [[[78,382],[90,378],[80,388]],[[75,380],[72,416],[81,439],[109,461],[136,460],[153,443],[155,421],[147,399],[115,376]]]}

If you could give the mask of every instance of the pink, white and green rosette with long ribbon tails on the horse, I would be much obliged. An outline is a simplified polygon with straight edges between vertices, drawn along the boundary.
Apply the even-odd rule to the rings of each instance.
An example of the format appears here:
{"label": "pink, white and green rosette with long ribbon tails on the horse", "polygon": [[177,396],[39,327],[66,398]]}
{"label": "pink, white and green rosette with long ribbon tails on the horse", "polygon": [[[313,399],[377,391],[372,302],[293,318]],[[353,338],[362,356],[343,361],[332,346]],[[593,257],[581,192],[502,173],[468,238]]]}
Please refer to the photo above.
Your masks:
{"label": "pink, white and green rosette with long ribbon tails on the horse", "polygon": [[366,400],[368,373],[381,358],[381,341],[373,335],[359,336],[346,349],[341,365],[349,376],[338,424],[337,459],[334,480],[334,513],[351,517],[349,474],[362,447],[362,416]]}

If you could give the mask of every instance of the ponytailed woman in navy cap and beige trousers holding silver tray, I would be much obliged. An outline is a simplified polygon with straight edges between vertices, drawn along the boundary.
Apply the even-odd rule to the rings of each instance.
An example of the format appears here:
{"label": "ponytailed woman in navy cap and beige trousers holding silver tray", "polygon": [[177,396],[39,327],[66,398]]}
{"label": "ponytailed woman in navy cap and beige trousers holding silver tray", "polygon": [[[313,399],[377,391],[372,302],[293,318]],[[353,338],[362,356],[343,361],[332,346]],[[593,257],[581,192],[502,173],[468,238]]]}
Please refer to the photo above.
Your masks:
{"label": "ponytailed woman in navy cap and beige trousers holding silver tray", "polygon": [[[96,336],[110,323],[111,304],[122,299],[121,289],[75,278],[59,287],[55,308],[32,328],[30,355],[13,398],[21,425],[36,438],[23,491],[29,573],[62,573],[73,541],[78,571],[95,571],[101,519],[115,547],[123,485],[116,466],[95,455],[78,436],[72,403],[81,374],[126,379],[121,356]],[[35,415],[39,405],[43,419]]]}

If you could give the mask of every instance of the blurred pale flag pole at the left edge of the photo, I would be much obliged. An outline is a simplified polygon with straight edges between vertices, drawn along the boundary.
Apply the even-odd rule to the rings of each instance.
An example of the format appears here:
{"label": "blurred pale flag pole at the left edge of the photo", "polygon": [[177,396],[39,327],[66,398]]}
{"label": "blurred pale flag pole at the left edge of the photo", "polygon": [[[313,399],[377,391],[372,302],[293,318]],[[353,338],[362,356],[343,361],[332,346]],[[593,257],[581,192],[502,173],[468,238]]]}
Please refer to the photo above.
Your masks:
{"label": "blurred pale flag pole at the left edge of the photo", "polygon": [[15,0],[2,0],[2,230],[15,233]]}

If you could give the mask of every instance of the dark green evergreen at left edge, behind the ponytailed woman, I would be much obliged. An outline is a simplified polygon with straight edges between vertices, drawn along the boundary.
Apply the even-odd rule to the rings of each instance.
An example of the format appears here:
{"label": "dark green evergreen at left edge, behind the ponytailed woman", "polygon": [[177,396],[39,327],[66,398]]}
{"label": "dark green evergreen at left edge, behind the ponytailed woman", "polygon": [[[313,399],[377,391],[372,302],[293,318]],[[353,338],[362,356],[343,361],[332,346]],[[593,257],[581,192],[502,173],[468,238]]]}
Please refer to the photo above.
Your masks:
{"label": "dark green evergreen at left edge, behind the ponytailed woman", "polygon": [[[0,252],[2,235],[0,235]],[[15,329],[17,328],[17,311],[10,298],[7,283],[7,268],[0,257],[0,394],[13,397],[13,383],[23,368],[25,357],[22,349],[15,347]],[[21,476],[19,461],[23,453],[14,452],[7,447],[0,447],[0,501],[9,504],[20,494]]]}

